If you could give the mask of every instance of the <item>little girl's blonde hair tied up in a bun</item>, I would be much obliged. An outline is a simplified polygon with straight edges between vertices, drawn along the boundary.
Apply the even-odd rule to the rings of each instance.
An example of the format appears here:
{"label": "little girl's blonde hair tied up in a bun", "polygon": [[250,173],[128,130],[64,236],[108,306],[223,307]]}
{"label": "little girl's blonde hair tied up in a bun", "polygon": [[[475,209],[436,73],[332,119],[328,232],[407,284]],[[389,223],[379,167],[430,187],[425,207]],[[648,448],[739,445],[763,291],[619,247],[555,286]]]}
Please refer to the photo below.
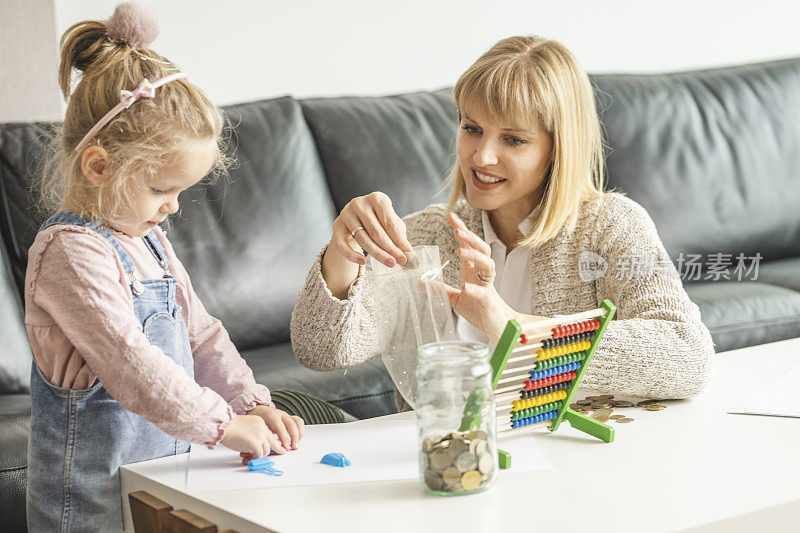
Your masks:
{"label": "little girl's blonde hair tied up in a bun", "polygon": [[[71,92],[73,69],[81,76]],[[68,105],[41,182],[44,211],[66,207],[88,220],[114,226],[120,208],[187,139],[215,139],[217,157],[211,176],[225,170],[229,163],[222,135],[225,118],[202,90],[184,78],[159,87],[154,98],[141,98],[123,109],[89,141],[89,146],[99,145],[108,152],[110,179],[94,184],[81,171],[82,153],[75,147],[120,102],[120,91],[132,91],[145,78],[153,82],[178,70],[148,48],[112,39],[105,21],[78,22],[64,33],[59,84]]]}

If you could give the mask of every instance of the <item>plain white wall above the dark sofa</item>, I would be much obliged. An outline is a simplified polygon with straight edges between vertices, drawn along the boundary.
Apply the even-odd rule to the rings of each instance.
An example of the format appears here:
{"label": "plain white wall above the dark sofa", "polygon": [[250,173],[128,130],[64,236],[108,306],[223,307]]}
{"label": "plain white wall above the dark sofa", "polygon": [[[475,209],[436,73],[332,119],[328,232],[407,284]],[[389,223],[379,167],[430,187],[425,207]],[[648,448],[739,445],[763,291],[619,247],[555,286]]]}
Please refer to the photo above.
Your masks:
{"label": "plain white wall above the dark sofa", "polygon": [[[58,35],[77,20],[107,18],[117,3],[51,1]],[[390,94],[448,86],[492,43],[512,34],[559,39],[596,73],[800,55],[795,0],[143,3],[161,25],[153,48],[177,62],[218,104],[283,94]],[[3,39],[0,35],[0,47]],[[0,121],[3,113],[0,109]]]}

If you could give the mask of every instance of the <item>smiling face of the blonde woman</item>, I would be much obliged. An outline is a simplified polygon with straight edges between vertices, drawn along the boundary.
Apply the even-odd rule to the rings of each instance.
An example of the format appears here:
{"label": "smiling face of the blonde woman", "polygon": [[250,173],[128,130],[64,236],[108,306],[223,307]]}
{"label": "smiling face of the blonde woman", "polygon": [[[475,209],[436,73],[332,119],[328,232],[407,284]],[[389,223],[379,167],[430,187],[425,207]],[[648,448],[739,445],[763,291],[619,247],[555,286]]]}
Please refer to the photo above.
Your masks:
{"label": "smiling face of the blonde woman", "polygon": [[538,129],[495,120],[480,107],[462,110],[456,150],[470,204],[496,215],[527,217],[544,192],[552,141]]}

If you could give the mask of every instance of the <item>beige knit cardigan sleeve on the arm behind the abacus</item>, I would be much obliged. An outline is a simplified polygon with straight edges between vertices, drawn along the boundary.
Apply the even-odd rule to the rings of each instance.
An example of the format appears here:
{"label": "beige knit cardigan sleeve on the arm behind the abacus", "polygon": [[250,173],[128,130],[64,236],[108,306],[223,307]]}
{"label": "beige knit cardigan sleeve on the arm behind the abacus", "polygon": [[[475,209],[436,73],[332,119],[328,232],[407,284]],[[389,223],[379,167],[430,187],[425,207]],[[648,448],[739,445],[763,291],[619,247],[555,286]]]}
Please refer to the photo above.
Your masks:
{"label": "beige knit cardigan sleeve on the arm behind the abacus", "polygon": [[700,310],[639,204],[615,195],[598,217],[595,249],[608,265],[598,304],[617,307],[583,384],[639,397],[687,398],[708,384],[714,345]]}

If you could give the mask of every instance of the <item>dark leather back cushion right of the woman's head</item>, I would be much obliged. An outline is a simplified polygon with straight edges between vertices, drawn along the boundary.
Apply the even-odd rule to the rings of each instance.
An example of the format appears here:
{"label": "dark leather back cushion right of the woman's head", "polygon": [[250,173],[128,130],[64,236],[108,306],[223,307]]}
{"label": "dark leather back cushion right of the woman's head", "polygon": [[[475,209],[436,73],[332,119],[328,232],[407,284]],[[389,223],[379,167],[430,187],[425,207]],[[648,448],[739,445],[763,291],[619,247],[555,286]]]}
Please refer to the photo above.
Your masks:
{"label": "dark leather back cushion right of the woman's head", "polygon": [[800,58],[592,79],[609,184],[673,257],[800,256]]}

